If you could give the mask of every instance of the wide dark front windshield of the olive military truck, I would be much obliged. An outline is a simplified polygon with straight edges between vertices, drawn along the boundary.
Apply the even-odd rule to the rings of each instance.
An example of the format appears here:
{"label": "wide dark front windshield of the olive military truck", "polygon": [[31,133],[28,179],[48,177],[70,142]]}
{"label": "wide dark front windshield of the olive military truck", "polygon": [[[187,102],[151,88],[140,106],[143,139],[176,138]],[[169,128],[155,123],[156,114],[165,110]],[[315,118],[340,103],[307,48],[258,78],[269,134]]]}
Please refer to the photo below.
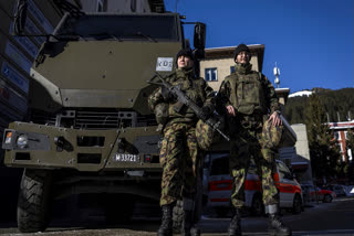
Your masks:
{"label": "wide dark front windshield of the olive military truck", "polygon": [[67,18],[55,32],[61,40],[179,41],[175,15],[86,14]]}

